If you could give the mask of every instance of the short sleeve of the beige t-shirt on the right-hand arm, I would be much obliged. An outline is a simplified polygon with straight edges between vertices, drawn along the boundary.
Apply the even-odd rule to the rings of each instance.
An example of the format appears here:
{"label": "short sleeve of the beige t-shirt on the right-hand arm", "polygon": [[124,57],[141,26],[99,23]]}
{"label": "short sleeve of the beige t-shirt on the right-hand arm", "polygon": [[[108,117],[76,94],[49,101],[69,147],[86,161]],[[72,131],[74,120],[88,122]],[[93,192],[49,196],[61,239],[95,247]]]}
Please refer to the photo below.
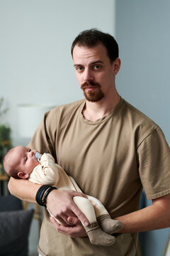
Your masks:
{"label": "short sleeve of the beige t-shirt on the right-hand arm", "polygon": [[170,193],[170,149],[157,127],[138,146],[139,172],[148,199]]}

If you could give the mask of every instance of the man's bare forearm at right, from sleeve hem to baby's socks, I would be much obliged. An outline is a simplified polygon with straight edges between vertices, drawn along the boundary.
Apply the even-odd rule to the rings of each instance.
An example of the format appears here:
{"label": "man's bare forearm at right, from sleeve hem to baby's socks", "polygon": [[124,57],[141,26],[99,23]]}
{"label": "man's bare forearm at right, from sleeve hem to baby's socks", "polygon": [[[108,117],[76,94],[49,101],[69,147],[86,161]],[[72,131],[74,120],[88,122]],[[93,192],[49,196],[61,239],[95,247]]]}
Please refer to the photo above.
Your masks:
{"label": "man's bare forearm at right, from sleeve hem to baby's socks", "polygon": [[115,218],[123,222],[119,233],[138,233],[170,227],[170,194],[153,200],[152,206]]}

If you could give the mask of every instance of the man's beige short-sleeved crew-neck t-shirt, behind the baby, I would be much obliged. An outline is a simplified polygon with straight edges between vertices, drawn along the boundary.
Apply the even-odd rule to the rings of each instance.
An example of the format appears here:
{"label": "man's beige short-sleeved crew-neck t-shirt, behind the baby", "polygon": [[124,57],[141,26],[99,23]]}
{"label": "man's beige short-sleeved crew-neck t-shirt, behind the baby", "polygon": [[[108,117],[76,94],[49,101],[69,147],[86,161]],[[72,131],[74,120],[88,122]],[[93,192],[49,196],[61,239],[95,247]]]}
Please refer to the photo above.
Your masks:
{"label": "man's beige short-sleeved crew-neck t-shirt, behind the baby", "polygon": [[[115,218],[140,208],[147,198],[170,193],[170,149],[161,129],[121,99],[105,117],[91,122],[81,111],[85,100],[45,114],[30,143],[49,152],[86,194],[98,198]],[[91,245],[88,238],[57,233],[45,210],[39,252],[50,256],[134,256],[137,234],[116,235],[111,247]]]}

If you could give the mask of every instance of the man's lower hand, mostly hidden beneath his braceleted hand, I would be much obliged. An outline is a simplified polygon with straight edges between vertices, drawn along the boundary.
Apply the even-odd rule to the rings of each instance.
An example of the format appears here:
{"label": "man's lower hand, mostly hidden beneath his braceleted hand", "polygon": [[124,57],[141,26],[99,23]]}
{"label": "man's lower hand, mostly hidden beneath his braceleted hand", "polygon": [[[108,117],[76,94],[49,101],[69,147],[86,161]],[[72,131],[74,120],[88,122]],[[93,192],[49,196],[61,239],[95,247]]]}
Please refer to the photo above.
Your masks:
{"label": "man's lower hand, mostly hidden beneath his braceleted hand", "polygon": [[[55,229],[64,235],[69,235],[71,238],[81,238],[81,237],[87,236],[86,230],[81,224],[65,227],[64,225],[60,225],[59,223],[57,223],[55,218],[50,217],[50,220],[53,223]],[[74,222],[74,218],[72,223],[73,222]],[[75,220],[75,223],[76,223],[76,220]]]}

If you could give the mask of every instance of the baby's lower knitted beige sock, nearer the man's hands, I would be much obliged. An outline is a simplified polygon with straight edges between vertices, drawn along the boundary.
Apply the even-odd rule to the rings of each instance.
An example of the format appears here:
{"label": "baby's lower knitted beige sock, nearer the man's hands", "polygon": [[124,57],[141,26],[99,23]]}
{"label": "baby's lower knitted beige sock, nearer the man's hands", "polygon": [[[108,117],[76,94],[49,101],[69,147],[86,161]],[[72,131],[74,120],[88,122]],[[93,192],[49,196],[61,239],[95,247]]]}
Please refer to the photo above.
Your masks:
{"label": "baby's lower knitted beige sock, nearer the man's hands", "polygon": [[115,243],[115,237],[113,235],[108,235],[101,230],[98,226],[98,223],[89,224],[87,227],[84,227],[89,240],[93,245],[103,245],[111,246]]}

